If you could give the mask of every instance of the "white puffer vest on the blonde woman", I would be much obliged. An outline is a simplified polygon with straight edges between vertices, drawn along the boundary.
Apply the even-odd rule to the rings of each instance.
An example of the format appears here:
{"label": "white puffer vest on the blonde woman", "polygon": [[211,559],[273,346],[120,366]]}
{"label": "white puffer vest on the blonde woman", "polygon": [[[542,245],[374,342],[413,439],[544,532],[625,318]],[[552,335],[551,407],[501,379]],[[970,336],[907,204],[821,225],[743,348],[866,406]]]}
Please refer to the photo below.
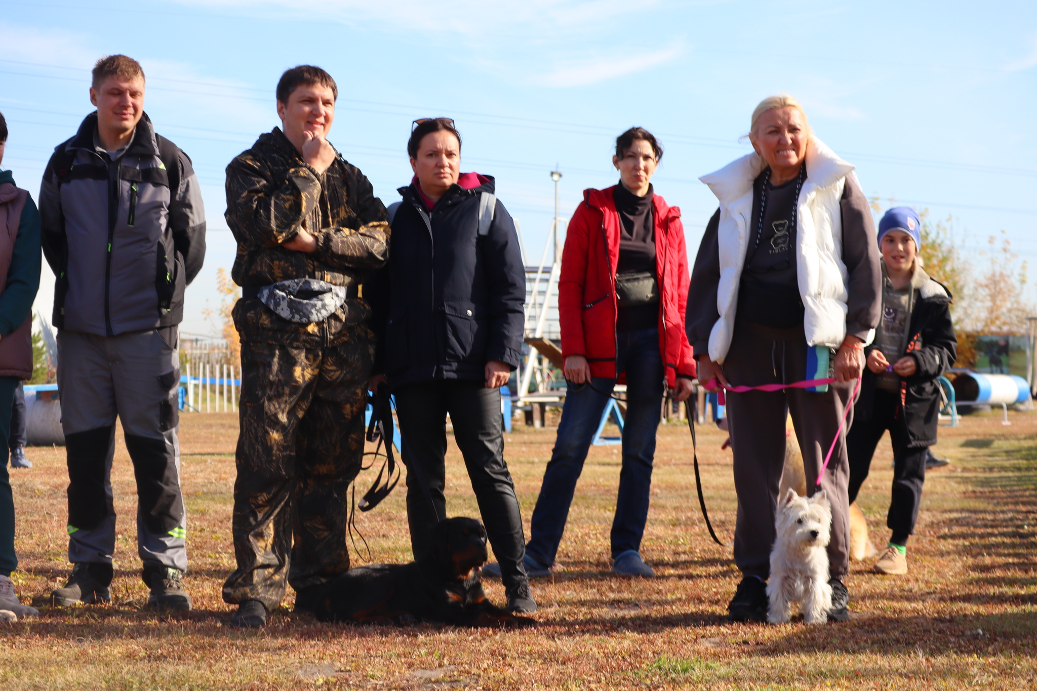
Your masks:
{"label": "white puffer vest on the blonde woman", "polygon": [[[807,147],[807,179],[796,211],[795,266],[800,295],[806,308],[807,344],[839,347],[846,337],[846,281],[842,260],[842,199],[846,178],[857,183],[853,166],[835,154],[816,137]],[[738,285],[746,263],[753,213],[753,181],[765,168],[756,153],[738,159],[699,179],[720,200],[720,319],[709,334],[709,358],[723,364],[731,346]],[[872,335],[873,336],[873,333]],[[869,336],[868,341],[871,340]]]}

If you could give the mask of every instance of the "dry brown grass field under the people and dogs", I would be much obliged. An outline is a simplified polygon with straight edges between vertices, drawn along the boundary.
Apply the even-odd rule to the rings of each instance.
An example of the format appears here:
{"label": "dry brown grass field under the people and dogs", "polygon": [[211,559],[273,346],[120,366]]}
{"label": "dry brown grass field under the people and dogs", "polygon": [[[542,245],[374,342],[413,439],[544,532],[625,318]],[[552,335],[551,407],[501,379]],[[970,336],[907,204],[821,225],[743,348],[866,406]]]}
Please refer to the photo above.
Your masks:
{"label": "dry brown grass field under the people and dogs", "polygon": [[[242,632],[220,586],[230,541],[232,413],[181,418],[189,511],[188,587],[194,611],[160,615],[144,604],[133,516],[133,470],[115,458],[119,537],[111,606],[54,609],[0,625],[0,689],[1033,689],[1037,687],[1037,413],[974,415],[942,427],[948,467],[929,474],[912,540],[910,574],[884,577],[856,563],[849,623],[808,628],[732,625],[737,583],[729,548],[709,541],[695,497],[691,438],[660,428],[643,554],[658,575],[609,573],[618,447],[592,448],[562,543],[564,565],[534,581],[538,626],[526,630],[419,625],[328,626],[290,612]],[[735,499],[723,437],[700,428],[700,460],[713,522],[730,536]],[[555,432],[517,425],[506,458],[523,516],[536,499]],[[12,471],[23,599],[63,582],[67,483],[63,449],[30,449]],[[892,478],[879,447],[861,505],[879,545]],[[361,476],[364,490],[373,472]],[[448,456],[450,515],[477,516],[459,454]],[[410,560],[402,488],[358,526],[379,563]],[[503,601],[500,582],[487,592]],[[290,593],[290,589],[289,589]]]}

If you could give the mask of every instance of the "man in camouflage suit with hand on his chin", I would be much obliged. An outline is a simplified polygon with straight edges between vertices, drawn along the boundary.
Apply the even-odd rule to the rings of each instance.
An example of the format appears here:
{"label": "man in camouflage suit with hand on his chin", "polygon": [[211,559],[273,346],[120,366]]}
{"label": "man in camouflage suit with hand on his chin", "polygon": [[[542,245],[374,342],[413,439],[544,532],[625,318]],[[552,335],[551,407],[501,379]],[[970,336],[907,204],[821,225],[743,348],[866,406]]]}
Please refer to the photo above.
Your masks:
{"label": "man in camouflage suit with hand on his chin", "polygon": [[389,225],[370,182],[326,139],[337,96],[324,69],[288,69],[277,86],[284,131],[227,167],[243,287],[237,569],[223,586],[234,626],[262,626],[286,580],[296,609],[311,608],[314,586],[349,568],[346,489],[374,356],[361,284],[388,259]]}

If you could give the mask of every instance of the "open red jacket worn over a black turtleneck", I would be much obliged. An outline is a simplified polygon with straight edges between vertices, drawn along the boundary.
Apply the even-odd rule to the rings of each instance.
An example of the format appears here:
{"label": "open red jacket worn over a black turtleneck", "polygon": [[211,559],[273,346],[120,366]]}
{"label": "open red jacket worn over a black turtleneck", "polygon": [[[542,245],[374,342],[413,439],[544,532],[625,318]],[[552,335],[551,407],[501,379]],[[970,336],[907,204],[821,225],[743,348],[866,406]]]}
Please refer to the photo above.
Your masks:
{"label": "open red jacket worn over a black turtleneck", "polygon": [[[615,188],[584,191],[584,202],[569,221],[558,282],[562,355],[584,355],[595,377],[616,376],[616,266],[619,213]],[[655,270],[661,299],[658,345],[670,387],[677,376],[694,377],[695,359],[684,333],[688,304],[688,251],[680,209],[654,196]]]}

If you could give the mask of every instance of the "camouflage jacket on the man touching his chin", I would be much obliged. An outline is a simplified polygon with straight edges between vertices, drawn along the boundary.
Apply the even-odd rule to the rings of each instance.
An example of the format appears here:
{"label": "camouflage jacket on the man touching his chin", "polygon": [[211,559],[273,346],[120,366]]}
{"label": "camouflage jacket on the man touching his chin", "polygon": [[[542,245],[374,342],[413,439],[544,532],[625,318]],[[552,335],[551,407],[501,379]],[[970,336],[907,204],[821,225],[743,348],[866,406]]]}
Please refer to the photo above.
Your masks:
{"label": "camouflage jacket on the man touching his chin", "polygon": [[[226,219],[237,240],[231,276],[245,289],[233,310],[242,340],[324,347],[347,338],[345,326],[366,324],[370,309],[362,289],[310,324],[283,319],[254,294],[304,278],[359,289],[388,260],[388,218],[371,183],[341,156],[321,175],[303,163],[280,128],[260,135],[227,166]],[[302,228],[316,238],[316,251],[281,247]]]}

